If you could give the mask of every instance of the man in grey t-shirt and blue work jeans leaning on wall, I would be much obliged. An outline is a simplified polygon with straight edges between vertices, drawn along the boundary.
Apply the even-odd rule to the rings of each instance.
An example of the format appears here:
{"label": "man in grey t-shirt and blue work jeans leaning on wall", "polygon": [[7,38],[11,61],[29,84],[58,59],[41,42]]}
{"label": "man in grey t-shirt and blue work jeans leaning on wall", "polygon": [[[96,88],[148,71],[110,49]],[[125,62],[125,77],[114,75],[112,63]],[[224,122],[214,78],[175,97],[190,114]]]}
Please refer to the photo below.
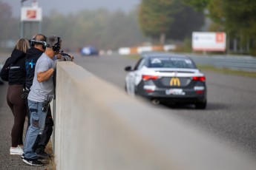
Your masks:
{"label": "man in grey t-shirt and blue work jeans leaning on wall", "polygon": [[[38,135],[42,135],[45,129],[45,118],[47,109],[53,98],[53,73],[56,69],[56,62],[59,61],[56,55],[62,46],[62,39],[56,35],[50,35],[47,38],[47,47],[44,53],[36,62],[33,84],[27,96],[30,109],[30,126],[27,129],[27,135],[24,146],[24,163],[30,166],[44,166],[44,163],[37,160],[36,152],[33,152],[33,146]],[[71,61],[68,56],[62,57],[62,61]]]}

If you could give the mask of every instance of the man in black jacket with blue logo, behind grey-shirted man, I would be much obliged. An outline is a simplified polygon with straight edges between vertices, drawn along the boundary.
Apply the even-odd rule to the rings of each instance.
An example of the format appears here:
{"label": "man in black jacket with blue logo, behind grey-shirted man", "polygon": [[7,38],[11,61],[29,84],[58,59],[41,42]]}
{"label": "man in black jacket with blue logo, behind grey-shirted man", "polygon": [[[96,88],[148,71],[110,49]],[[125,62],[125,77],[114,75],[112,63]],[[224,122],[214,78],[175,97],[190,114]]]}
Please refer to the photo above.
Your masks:
{"label": "man in black jacket with blue logo, behind grey-shirted man", "polygon": [[[45,35],[37,34],[33,39],[30,40],[31,48],[27,50],[26,52],[26,81],[25,81],[25,88],[28,92],[30,91],[30,87],[33,84],[33,78],[35,73],[35,67],[36,67],[36,61],[39,59],[39,57],[42,55],[43,52],[45,52],[45,48],[47,46],[47,38]],[[27,104],[27,99],[25,99]],[[30,111],[28,109],[27,105],[27,128],[30,126]],[[37,137],[36,143],[33,146],[34,152],[36,152],[38,157],[50,157],[49,154],[45,152],[45,147],[50,140],[50,135],[52,135],[53,132],[53,118],[51,115],[50,106],[47,109],[47,117],[45,119],[45,129],[42,132],[42,135]]]}

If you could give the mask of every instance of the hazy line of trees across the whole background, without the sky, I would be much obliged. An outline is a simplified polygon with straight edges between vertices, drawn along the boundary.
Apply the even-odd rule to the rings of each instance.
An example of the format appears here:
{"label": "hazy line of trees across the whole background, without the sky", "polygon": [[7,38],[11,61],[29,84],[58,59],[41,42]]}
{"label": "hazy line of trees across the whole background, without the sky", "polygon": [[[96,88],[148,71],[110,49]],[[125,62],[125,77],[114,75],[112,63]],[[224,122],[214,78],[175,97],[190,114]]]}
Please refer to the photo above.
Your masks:
{"label": "hazy line of trees across the whole background, without the sky", "polygon": [[[70,50],[89,44],[102,50],[116,50],[143,42],[191,43],[191,33],[201,31],[207,17],[211,19],[207,31],[226,32],[228,50],[255,54],[255,9],[256,1],[252,0],[141,0],[130,13],[105,9],[73,14],[52,11],[50,16],[43,17],[42,33],[68,40],[63,45]],[[11,10],[0,1],[1,47],[6,41],[19,38],[19,18],[12,17]]]}

